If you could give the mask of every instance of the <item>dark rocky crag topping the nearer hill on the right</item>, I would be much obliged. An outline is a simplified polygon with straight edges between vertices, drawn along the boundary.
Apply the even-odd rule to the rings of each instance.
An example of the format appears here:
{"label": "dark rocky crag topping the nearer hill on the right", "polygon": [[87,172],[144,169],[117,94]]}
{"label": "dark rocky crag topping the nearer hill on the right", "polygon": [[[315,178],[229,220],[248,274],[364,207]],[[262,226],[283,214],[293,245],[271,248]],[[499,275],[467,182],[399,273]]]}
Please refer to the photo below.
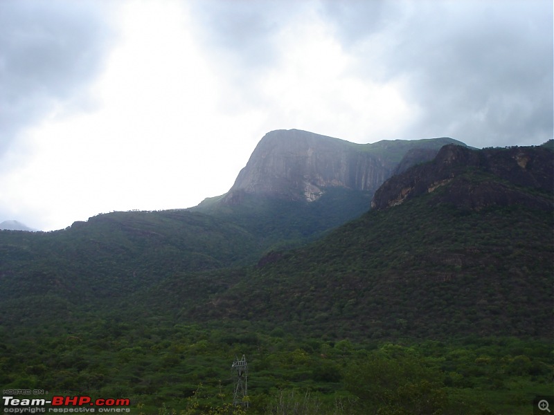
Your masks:
{"label": "dark rocky crag topping the nearer hill on the right", "polygon": [[553,152],[544,147],[476,150],[447,145],[431,163],[388,179],[371,206],[388,208],[445,186],[436,203],[471,210],[512,203],[551,209],[553,162]]}

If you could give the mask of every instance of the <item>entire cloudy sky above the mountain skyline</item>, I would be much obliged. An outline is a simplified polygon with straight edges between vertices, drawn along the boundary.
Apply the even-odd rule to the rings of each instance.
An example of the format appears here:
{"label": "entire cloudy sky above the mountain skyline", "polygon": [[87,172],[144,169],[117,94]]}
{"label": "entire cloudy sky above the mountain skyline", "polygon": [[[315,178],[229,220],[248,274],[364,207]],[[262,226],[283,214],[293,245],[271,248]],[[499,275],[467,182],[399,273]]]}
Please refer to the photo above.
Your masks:
{"label": "entire cloudy sky above the mountain skyline", "polygon": [[0,222],[224,194],[265,133],[553,138],[551,0],[0,0]]}

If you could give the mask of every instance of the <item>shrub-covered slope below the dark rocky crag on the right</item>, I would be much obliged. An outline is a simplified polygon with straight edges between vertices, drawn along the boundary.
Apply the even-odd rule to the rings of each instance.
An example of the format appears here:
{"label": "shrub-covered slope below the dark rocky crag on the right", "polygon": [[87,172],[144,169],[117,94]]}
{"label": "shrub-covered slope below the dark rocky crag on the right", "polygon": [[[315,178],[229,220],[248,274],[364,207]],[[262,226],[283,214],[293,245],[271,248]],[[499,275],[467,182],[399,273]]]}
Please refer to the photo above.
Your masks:
{"label": "shrub-covered slope below the dark rocky crag on the right", "polygon": [[[425,199],[274,252],[190,313],[287,322],[292,332],[338,338],[551,335],[552,213],[431,209]],[[164,282],[166,306],[186,297],[184,281]]]}

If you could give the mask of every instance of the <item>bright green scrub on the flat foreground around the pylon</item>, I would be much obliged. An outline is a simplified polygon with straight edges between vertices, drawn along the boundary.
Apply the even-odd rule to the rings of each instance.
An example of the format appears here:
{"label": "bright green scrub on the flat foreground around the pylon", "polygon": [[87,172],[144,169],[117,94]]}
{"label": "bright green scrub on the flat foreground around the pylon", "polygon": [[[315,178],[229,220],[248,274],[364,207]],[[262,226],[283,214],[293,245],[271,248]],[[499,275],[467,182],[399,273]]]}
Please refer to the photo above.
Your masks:
{"label": "bright green scrub on the flat foreground around the pylon", "polygon": [[541,340],[351,342],[164,315],[3,330],[5,389],[130,398],[135,414],[231,413],[231,362],[242,353],[253,414],[521,414],[554,380]]}

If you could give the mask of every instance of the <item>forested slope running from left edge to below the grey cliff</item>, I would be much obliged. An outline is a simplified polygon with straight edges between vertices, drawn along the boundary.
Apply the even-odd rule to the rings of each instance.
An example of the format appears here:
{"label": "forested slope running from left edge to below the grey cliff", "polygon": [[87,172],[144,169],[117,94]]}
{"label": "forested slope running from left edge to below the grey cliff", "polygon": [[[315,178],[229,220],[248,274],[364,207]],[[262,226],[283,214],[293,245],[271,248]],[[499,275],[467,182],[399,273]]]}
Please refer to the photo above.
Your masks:
{"label": "forested slope running from left edge to below the grey cliff", "polygon": [[251,198],[217,214],[112,212],[55,232],[0,231],[0,300],[111,302],[183,270],[256,263],[359,216],[369,202],[368,192],[337,188],[312,204]]}

